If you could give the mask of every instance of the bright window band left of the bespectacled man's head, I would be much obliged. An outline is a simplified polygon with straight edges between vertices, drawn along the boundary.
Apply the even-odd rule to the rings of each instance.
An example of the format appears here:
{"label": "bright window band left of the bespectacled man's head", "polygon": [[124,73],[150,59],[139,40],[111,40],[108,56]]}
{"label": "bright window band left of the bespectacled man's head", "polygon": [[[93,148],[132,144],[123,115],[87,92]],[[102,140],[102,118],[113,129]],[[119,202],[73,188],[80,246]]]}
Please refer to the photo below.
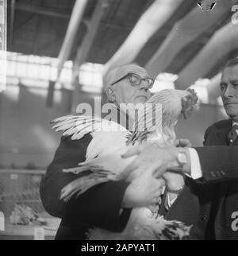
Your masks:
{"label": "bright window band left of the bespectacled man's head", "polygon": [[[42,56],[26,56],[17,52],[7,52],[7,81],[10,84],[21,82],[29,87],[48,87],[49,81],[57,79],[58,59]],[[90,93],[102,91],[102,64],[83,64],[79,71],[79,83],[82,90]],[[66,61],[56,89],[73,89],[72,61]]]}

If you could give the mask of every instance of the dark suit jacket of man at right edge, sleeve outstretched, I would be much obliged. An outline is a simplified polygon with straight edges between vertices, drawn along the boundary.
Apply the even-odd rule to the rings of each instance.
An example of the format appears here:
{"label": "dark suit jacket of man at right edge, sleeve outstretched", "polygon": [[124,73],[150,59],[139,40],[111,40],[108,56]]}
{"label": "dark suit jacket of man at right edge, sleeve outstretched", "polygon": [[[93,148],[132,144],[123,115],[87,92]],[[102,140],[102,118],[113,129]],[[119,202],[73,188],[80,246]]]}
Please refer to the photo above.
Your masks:
{"label": "dark suit jacket of man at right edge, sleeve outstretched", "polygon": [[171,209],[161,210],[167,219],[194,223],[192,239],[238,239],[238,231],[232,231],[232,213],[238,211],[238,139],[228,146],[231,129],[232,120],[224,120],[206,130],[205,147],[196,148],[203,178],[187,179]]}

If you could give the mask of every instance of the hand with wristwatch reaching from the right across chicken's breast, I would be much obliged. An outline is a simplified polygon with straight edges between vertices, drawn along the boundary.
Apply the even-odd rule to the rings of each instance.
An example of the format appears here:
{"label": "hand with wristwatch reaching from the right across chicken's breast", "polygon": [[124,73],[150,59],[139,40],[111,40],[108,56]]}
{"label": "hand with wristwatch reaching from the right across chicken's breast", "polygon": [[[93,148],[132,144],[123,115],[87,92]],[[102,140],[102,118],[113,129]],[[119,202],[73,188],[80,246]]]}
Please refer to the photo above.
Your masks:
{"label": "hand with wristwatch reaching from the right across chicken's breast", "polygon": [[121,155],[122,158],[136,156],[134,161],[125,168],[122,176],[126,180],[133,180],[142,173],[152,173],[152,176],[160,177],[166,169],[177,167],[178,149],[173,145],[138,145]]}

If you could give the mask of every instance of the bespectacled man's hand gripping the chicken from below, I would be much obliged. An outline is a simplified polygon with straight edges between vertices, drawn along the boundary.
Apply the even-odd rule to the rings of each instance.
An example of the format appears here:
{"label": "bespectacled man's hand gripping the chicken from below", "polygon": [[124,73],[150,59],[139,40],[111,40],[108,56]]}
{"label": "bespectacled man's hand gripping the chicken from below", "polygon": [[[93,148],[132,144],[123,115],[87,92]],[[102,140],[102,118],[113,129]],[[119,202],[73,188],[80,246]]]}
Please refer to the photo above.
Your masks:
{"label": "bespectacled man's hand gripping the chicken from below", "polygon": [[132,180],[125,190],[122,207],[140,208],[158,203],[164,184],[163,179],[155,179],[151,173],[144,173]]}

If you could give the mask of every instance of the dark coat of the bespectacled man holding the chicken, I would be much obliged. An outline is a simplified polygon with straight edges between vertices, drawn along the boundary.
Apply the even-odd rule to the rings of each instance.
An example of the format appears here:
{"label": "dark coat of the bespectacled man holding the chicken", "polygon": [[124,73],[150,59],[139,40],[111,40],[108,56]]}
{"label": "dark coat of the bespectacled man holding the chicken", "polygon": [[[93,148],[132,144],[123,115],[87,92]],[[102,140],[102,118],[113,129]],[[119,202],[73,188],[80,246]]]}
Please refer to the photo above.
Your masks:
{"label": "dark coat of the bespectacled man holding the chicken", "polygon": [[52,163],[40,184],[40,197],[49,214],[62,219],[56,239],[85,239],[90,227],[123,231],[131,210],[119,211],[128,184],[125,181],[99,184],[78,198],[64,203],[59,200],[61,189],[76,177],[62,169],[75,167],[85,161],[86,148],[92,137],[86,134],[78,141],[62,137]]}

